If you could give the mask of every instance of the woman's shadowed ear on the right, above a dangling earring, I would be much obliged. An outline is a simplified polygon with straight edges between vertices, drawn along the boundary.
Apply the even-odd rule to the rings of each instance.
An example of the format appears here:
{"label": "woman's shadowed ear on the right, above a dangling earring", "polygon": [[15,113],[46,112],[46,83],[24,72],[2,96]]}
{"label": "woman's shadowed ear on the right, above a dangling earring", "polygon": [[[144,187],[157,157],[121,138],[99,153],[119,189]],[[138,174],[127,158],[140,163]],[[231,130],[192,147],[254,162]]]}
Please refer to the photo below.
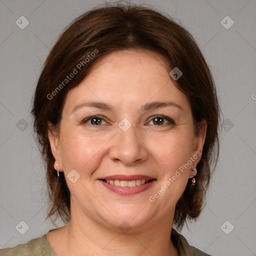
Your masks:
{"label": "woman's shadowed ear on the right, above a dangling earring", "polygon": [[[197,165],[197,163],[201,159],[202,148],[203,148],[203,144],[206,137],[206,130],[207,130],[207,122],[206,120],[203,119],[199,124],[199,134],[196,137],[194,137],[194,144],[193,144],[191,156],[192,157],[197,156],[197,157],[195,157],[196,159],[194,160],[193,165]],[[190,174],[192,175],[192,173]]]}

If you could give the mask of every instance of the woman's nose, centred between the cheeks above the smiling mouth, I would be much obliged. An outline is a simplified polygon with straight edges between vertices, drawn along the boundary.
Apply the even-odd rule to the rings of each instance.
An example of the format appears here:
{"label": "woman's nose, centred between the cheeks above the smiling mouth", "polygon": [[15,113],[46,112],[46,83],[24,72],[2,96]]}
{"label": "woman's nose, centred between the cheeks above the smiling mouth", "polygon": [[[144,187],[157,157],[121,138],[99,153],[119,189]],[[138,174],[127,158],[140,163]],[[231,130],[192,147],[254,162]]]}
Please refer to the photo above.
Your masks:
{"label": "woman's nose, centred between the cheeks above the smiling mouth", "polygon": [[124,165],[145,161],[148,157],[148,148],[143,140],[143,134],[138,132],[134,125],[126,131],[117,126],[117,133],[111,140],[109,157],[114,161],[121,161]]}

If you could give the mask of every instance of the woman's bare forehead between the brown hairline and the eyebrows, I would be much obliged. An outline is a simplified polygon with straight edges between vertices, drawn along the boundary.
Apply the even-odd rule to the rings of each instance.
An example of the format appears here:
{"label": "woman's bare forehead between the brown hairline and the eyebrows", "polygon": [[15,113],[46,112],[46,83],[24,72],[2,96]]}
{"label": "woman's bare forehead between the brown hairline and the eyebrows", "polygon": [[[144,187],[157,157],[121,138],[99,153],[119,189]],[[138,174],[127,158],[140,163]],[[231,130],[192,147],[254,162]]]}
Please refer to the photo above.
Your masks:
{"label": "woman's bare forehead between the brown hairline and the eyebrows", "polygon": [[111,52],[93,63],[66,96],[68,107],[85,100],[119,107],[172,100],[188,107],[185,94],[170,79],[165,59],[155,52],[133,49]]}

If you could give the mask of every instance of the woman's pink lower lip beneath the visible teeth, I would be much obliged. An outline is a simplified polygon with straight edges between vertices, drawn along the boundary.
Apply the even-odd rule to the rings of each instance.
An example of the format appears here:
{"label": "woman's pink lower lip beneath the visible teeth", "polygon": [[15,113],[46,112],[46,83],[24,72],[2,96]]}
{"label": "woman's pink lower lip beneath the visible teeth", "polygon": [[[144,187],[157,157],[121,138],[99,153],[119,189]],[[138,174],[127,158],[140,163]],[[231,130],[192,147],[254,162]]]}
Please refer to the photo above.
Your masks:
{"label": "woman's pink lower lip beneath the visible teeth", "polygon": [[116,194],[120,194],[120,195],[131,195],[131,194],[137,194],[140,193],[142,191],[145,191],[146,189],[148,189],[156,180],[152,180],[148,183],[144,183],[138,186],[117,186],[117,185],[113,185],[113,184],[109,184],[101,179],[99,179],[99,181],[109,190],[115,192]]}

